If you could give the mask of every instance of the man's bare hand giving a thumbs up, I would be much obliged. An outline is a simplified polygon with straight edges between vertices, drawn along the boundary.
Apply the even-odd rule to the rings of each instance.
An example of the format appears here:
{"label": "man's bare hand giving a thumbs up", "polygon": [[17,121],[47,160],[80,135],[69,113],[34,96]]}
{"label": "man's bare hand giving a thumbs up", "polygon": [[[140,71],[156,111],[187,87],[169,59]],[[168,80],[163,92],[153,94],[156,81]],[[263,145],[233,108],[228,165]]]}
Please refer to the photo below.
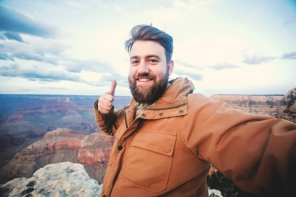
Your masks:
{"label": "man's bare hand giving a thumbs up", "polygon": [[110,91],[104,93],[99,99],[98,110],[103,114],[108,114],[113,106],[116,85],[117,82],[113,79]]}

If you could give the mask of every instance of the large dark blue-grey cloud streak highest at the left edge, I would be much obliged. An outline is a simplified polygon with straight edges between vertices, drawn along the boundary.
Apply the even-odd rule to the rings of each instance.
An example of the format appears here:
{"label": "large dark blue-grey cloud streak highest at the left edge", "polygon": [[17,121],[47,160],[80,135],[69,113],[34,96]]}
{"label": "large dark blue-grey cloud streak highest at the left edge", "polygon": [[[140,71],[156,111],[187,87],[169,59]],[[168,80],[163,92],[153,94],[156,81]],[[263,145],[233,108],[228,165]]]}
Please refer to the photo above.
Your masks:
{"label": "large dark blue-grey cloud streak highest at the left edge", "polygon": [[0,31],[26,33],[39,37],[54,37],[53,28],[0,5]]}

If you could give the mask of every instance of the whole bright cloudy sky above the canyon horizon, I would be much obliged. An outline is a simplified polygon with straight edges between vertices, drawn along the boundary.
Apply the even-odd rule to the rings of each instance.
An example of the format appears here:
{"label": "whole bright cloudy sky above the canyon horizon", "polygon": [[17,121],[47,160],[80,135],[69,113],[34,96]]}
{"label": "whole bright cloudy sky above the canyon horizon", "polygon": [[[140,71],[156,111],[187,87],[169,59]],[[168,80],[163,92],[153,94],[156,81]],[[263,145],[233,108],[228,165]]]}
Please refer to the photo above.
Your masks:
{"label": "whole bright cloudy sky above the canyon horizon", "polygon": [[0,94],[131,96],[124,41],[150,23],[194,93],[296,87],[296,0],[0,0]]}

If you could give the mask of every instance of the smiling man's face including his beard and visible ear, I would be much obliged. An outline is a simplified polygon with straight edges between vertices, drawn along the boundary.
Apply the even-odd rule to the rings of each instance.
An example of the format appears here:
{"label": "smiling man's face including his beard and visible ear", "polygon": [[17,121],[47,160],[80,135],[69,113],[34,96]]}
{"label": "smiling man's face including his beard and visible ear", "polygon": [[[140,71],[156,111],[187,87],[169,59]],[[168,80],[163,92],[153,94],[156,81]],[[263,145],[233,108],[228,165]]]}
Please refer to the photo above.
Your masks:
{"label": "smiling man's face including his beard and visible ear", "polygon": [[134,99],[153,103],[164,93],[174,62],[166,63],[165,49],[157,42],[136,41],[130,52],[129,85]]}

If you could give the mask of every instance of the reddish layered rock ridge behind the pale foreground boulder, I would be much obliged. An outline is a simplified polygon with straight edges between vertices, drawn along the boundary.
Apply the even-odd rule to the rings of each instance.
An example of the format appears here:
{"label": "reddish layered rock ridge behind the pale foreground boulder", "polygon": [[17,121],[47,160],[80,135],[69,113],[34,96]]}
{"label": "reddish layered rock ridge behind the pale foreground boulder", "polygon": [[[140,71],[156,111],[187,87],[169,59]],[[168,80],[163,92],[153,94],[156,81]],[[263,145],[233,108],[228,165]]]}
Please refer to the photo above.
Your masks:
{"label": "reddish layered rock ridge behind the pale foreground boulder", "polygon": [[103,182],[114,137],[102,131],[89,135],[72,133],[70,129],[47,132],[43,139],[17,153],[1,168],[1,183],[17,177],[31,177],[47,164],[80,163],[90,177]]}

